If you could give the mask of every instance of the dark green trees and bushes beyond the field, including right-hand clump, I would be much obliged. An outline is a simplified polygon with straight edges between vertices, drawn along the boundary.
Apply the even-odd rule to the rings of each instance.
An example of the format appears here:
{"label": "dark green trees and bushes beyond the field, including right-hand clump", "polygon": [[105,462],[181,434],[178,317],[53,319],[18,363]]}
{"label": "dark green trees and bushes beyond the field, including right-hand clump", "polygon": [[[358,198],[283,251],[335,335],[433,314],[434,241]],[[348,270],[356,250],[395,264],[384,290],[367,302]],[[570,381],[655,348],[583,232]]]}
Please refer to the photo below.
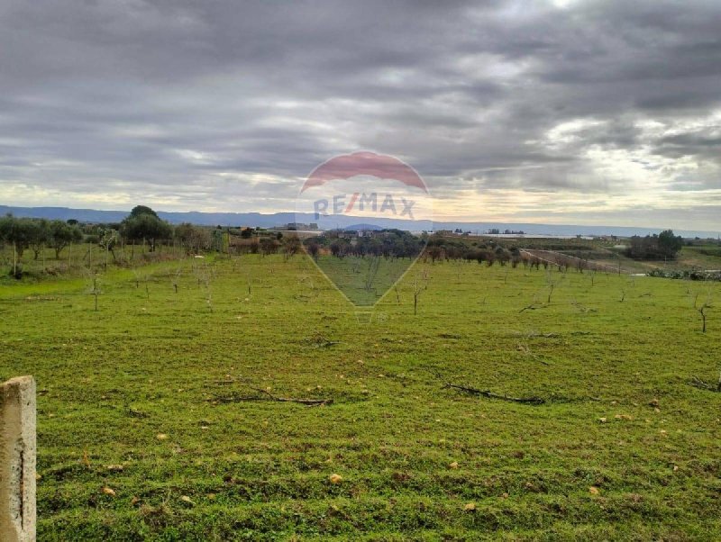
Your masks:
{"label": "dark green trees and bushes beyond the field, including right-hand clump", "polygon": [[[87,226],[85,226],[87,229]],[[163,221],[150,207],[138,205],[119,224],[105,226],[92,226],[92,233],[86,231],[87,240],[105,248],[114,254],[114,247],[119,243],[148,243],[151,252],[158,244],[173,240],[178,242],[188,253],[198,253],[209,249],[223,250],[244,248],[250,252],[260,252],[263,255],[277,253],[282,249],[286,257],[293,256],[301,248],[300,241],[293,236],[282,239],[282,234],[275,236],[258,236],[258,232],[250,229],[222,230],[210,229],[183,223],[173,228],[167,221]],[[15,218],[6,215],[0,218],[0,242],[11,244],[14,248],[14,262],[23,257],[25,250],[32,248],[37,259],[43,248],[54,248],[56,258],[71,243],[84,238],[83,230],[77,221],[47,221],[29,218]],[[232,239],[240,239],[233,242]],[[505,248],[492,241],[488,244],[473,243],[472,245],[447,239],[443,236],[419,239],[402,230],[365,231],[330,231],[321,236],[306,239],[306,250],[311,256],[320,253],[331,254],[334,257],[417,257],[421,251],[424,258],[432,261],[438,259],[465,259],[486,262],[493,265],[510,263],[516,266],[523,263],[525,266],[539,266],[541,261],[536,257],[529,257],[518,248]],[[631,239],[627,254],[634,258],[673,258],[676,257],[683,240],[673,234],[672,230],[662,231],[661,234],[635,236]],[[14,271],[16,263],[14,263]]]}

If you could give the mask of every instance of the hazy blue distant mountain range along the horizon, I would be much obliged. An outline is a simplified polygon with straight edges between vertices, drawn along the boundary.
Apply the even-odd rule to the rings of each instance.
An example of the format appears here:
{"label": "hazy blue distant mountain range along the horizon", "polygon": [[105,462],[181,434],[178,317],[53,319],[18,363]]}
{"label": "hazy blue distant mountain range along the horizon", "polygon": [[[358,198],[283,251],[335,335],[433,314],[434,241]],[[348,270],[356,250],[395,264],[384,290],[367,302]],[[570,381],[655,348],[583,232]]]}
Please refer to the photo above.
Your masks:
{"label": "hazy blue distant mountain range along the horizon", "polygon": [[[10,207],[0,205],[0,215],[11,212],[15,216],[32,218],[45,218],[49,220],[67,221],[75,219],[81,222],[119,222],[129,211],[99,211],[96,209],[69,209],[68,207]],[[352,230],[371,230],[380,228],[397,228],[398,230],[456,230],[470,231],[471,233],[484,233],[491,229],[501,232],[505,230],[523,230],[533,235],[616,235],[630,237],[632,235],[647,235],[659,233],[662,228],[634,228],[625,226],[581,226],[572,224],[525,224],[514,222],[447,222],[447,221],[406,221],[400,219],[372,219],[373,223],[359,223],[358,216],[333,215],[315,219],[313,214],[296,214],[295,212],[275,212],[262,214],[260,212],[163,212],[159,211],[161,219],[172,224],[191,222],[203,226],[252,226],[260,228],[273,228],[288,223],[305,222],[317,223],[323,230],[333,228]],[[363,217],[361,220],[368,220]],[[676,234],[684,237],[714,238],[719,231],[674,230]]]}

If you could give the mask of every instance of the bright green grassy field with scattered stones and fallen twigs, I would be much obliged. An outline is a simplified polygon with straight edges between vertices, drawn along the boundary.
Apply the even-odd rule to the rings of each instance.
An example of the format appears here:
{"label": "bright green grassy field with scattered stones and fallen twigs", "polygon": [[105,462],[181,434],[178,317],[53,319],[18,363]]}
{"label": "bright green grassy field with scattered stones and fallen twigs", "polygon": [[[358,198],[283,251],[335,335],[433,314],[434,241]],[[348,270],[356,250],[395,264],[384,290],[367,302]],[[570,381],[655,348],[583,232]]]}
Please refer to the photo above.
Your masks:
{"label": "bright green grassy field with scattered stones and fallen twigs", "polygon": [[0,285],[41,540],[721,539],[721,285],[418,263],[370,323],[301,256],[98,287]]}

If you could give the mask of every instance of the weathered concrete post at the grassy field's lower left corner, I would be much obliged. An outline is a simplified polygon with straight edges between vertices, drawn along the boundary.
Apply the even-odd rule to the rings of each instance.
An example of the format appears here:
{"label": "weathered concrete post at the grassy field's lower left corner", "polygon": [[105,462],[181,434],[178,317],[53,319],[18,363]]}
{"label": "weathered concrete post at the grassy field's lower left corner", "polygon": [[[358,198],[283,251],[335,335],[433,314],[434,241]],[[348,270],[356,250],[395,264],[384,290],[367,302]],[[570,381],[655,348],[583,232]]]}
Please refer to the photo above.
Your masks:
{"label": "weathered concrete post at the grassy field's lower left corner", "polygon": [[0,540],[35,540],[35,381],[0,384]]}

